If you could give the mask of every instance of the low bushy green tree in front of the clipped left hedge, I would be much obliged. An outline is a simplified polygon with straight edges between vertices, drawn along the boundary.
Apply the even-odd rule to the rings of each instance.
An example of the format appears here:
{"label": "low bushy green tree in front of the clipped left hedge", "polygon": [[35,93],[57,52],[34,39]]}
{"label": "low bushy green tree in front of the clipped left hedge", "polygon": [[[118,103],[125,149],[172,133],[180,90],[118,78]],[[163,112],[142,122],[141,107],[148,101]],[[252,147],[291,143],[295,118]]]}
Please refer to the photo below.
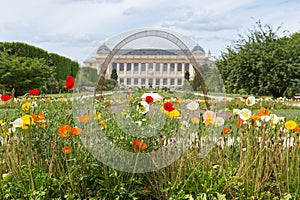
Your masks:
{"label": "low bushy green tree in front of the clipped left hedge", "polygon": [[0,53],[0,84],[6,91],[15,89],[15,95],[23,95],[30,89],[42,89],[53,67],[45,59],[8,56]]}

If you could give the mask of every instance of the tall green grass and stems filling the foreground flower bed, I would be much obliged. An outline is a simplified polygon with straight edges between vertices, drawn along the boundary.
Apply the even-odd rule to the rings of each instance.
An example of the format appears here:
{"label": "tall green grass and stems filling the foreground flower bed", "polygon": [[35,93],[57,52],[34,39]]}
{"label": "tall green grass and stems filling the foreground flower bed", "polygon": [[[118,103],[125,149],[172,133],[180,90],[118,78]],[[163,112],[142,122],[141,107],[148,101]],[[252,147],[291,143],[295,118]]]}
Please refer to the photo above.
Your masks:
{"label": "tall green grass and stems filling the foreground flower bed", "polygon": [[[138,97],[134,94],[133,96]],[[174,93],[172,93],[174,94]],[[167,94],[166,96],[168,96]],[[55,95],[58,97],[59,95]],[[70,97],[70,94],[67,95]],[[132,116],[138,115],[134,99]],[[89,139],[88,124],[79,123],[73,117],[72,102],[36,101],[38,106],[23,111],[18,104],[3,106],[0,119],[4,125],[0,128],[3,138],[0,143],[0,199],[299,199],[300,198],[300,142],[299,133],[281,131],[284,122],[273,128],[269,124],[255,128],[243,126],[237,128],[236,119],[226,120],[231,125],[230,133],[220,140],[227,142],[235,136],[231,146],[214,144],[206,156],[200,157],[197,144],[170,165],[147,173],[128,173],[108,167],[93,157],[81,139]],[[300,110],[292,109],[281,103],[263,102],[249,108],[252,113],[261,106],[271,109],[272,113],[284,116],[300,123]],[[243,102],[228,104],[228,108],[247,107]],[[138,136],[125,137],[127,132],[118,126],[116,115],[106,112],[110,103],[101,101],[96,105],[107,127],[99,130],[111,142],[133,153],[132,140]],[[46,127],[42,122],[31,124],[28,129],[17,128],[7,135],[11,122],[21,116],[43,112]],[[2,116],[2,118],[1,118]],[[145,117],[147,119],[147,115]],[[159,119],[157,119],[159,120]],[[145,138],[145,150],[139,153],[161,148],[165,140],[172,137],[174,130],[180,128],[180,121],[169,119],[161,135]],[[58,135],[62,125],[82,128],[79,136],[70,134],[66,138]],[[209,127],[199,125],[198,137],[203,136]],[[220,130],[221,131],[221,130]],[[123,136],[123,137],[122,137]],[[257,137],[262,138],[262,143]],[[294,137],[293,148],[283,146],[282,138]],[[237,137],[240,141],[237,142]],[[157,141],[157,145],[153,141]],[[93,141],[93,144],[96,140]],[[209,142],[207,137],[205,142]],[[272,141],[272,142],[271,142]],[[70,154],[64,154],[62,148],[69,146]],[[199,145],[198,145],[199,146]],[[111,158],[120,155],[112,155]]]}

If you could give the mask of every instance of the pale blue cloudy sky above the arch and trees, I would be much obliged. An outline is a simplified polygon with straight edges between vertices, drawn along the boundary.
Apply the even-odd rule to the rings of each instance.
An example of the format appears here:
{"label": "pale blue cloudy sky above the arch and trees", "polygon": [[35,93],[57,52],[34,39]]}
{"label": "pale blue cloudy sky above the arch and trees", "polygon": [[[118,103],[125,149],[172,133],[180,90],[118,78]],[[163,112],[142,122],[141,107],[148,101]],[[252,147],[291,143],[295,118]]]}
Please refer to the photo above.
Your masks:
{"label": "pale blue cloudy sky above the arch and trees", "polygon": [[82,63],[136,29],[178,32],[219,56],[255,23],[300,32],[298,0],[0,0],[0,41],[21,41]]}

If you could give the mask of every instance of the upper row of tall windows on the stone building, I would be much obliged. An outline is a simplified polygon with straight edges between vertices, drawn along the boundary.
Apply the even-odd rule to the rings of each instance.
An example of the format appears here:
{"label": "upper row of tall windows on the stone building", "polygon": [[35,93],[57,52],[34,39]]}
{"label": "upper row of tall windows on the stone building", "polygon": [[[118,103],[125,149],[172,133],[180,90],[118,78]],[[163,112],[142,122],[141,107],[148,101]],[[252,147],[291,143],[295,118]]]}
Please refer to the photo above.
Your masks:
{"label": "upper row of tall windows on the stone building", "polygon": [[[117,69],[118,64],[112,63],[112,68]],[[119,71],[139,71],[139,68],[141,71],[146,71],[146,67],[148,67],[148,71],[154,70],[155,71],[168,71],[168,63],[119,63]],[[175,71],[175,63],[169,64],[170,71]],[[189,63],[177,63],[177,71],[181,72],[182,67],[184,67],[184,71],[190,70],[190,64]]]}

